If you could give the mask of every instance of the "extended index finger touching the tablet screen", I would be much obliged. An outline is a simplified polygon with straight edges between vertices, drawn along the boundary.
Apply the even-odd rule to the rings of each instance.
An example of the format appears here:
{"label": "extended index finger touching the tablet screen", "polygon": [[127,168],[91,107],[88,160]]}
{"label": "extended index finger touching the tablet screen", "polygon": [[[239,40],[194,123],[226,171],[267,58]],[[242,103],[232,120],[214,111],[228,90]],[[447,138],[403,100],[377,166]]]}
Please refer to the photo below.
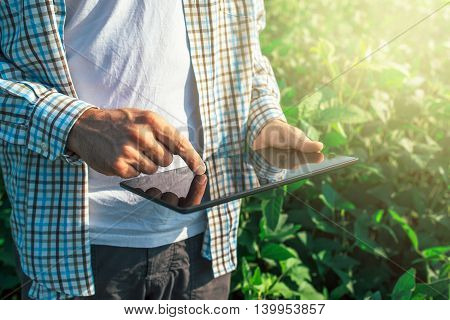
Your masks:
{"label": "extended index finger touching the tablet screen", "polygon": [[206,172],[205,163],[191,142],[172,125],[164,121],[160,123],[159,129],[154,133],[156,139],[163,143],[170,152],[178,154],[195,174],[200,175]]}

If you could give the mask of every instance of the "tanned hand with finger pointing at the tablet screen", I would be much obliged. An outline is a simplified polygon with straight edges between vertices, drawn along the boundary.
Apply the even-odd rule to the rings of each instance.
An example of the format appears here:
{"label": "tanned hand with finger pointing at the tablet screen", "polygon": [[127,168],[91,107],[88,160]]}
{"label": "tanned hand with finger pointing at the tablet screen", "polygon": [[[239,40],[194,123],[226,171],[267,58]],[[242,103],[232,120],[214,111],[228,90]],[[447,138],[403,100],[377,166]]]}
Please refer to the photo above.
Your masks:
{"label": "tanned hand with finger pointing at the tablet screen", "polygon": [[67,148],[94,170],[122,178],[152,174],[170,165],[174,154],[194,173],[206,171],[187,138],[156,113],[133,108],[88,109],[71,129]]}

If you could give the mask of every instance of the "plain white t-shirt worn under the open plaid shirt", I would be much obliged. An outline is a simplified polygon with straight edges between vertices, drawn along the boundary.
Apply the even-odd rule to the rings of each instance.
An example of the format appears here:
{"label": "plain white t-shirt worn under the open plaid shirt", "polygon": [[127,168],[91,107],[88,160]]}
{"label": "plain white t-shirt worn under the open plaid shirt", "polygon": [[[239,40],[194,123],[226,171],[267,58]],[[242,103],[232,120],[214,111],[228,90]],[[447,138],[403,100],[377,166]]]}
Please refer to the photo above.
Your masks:
{"label": "plain white t-shirt worn under the open plaid shirt", "polygon": [[[66,0],[64,43],[80,99],[162,115],[194,147],[203,132],[182,0]],[[174,157],[165,171],[185,166]],[[204,211],[179,214],[89,169],[91,243],[150,248],[206,228]]]}

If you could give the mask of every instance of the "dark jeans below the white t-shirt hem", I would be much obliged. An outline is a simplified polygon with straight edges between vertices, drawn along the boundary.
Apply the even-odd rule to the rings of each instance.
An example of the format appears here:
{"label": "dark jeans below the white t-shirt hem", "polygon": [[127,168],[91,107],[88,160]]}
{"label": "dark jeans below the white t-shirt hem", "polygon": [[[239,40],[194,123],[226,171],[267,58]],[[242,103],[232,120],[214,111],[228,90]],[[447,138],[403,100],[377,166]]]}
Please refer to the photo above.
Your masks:
{"label": "dark jeans below the white t-shirt hem", "polygon": [[[150,249],[92,245],[95,295],[76,299],[227,299],[231,274],[213,277],[202,241],[199,234]],[[29,278],[19,273],[26,299]]]}

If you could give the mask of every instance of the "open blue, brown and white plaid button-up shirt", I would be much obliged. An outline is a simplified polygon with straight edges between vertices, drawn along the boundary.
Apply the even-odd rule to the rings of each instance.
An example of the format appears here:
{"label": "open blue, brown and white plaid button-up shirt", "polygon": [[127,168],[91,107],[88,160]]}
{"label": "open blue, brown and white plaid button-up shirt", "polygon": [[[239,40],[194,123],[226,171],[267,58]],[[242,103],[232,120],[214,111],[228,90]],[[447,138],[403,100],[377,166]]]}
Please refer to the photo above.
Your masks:
{"label": "open blue, brown and white plaid button-up shirt", "polygon": [[[262,55],[262,0],[183,0],[204,128],[203,158],[251,145],[284,119]],[[77,99],[64,51],[64,0],[0,1],[0,164],[11,226],[35,299],[94,294],[87,166],[65,149],[88,103]],[[214,162],[212,162],[214,163]],[[212,165],[212,196],[233,179]],[[239,201],[208,210],[202,254],[214,275],[236,267]]]}

